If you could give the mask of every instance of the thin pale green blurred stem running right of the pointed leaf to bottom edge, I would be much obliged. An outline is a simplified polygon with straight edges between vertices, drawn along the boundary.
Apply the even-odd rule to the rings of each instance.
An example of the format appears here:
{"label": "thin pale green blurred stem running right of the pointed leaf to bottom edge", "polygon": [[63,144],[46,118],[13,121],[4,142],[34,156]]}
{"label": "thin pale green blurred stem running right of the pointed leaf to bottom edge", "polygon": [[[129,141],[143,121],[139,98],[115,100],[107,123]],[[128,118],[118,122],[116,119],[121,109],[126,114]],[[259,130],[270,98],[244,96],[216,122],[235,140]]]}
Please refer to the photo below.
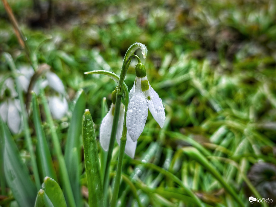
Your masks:
{"label": "thin pale green blurred stem running right of the pointed leaf to bottom edge", "polygon": [[42,104],[44,106],[47,122],[50,125],[52,140],[54,143],[54,149],[57,154],[58,162],[60,164],[60,174],[61,174],[60,178],[62,179],[62,183],[65,188],[66,198],[68,199],[69,206],[76,207],[76,203],[74,200],[74,194],[73,194],[69,176],[68,176],[68,171],[67,171],[67,168],[65,165],[64,157],[62,155],[59,138],[57,136],[56,127],[54,125],[54,121],[51,116],[50,108],[48,106],[48,102],[45,97],[44,89],[42,89],[42,88],[40,89],[40,97],[42,98]]}

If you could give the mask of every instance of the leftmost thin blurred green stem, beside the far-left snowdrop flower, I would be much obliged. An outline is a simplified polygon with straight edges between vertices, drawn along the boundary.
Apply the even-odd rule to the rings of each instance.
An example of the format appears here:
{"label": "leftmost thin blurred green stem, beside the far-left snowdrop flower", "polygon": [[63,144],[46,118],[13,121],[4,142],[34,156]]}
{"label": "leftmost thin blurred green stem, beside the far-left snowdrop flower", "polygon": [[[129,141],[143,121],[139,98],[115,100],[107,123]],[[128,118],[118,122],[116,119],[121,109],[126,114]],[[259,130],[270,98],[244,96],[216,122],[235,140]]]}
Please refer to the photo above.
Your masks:
{"label": "leftmost thin blurred green stem, beside the far-left snowdrop flower", "polygon": [[4,53],[4,56],[7,60],[8,65],[10,66],[13,74],[16,76],[16,90],[18,92],[19,100],[20,100],[21,113],[22,113],[22,118],[23,118],[23,123],[24,123],[25,139],[27,141],[28,150],[29,150],[29,153],[31,156],[31,163],[32,163],[32,167],[33,167],[33,174],[34,174],[34,179],[36,182],[36,188],[37,188],[37,190],[39,190],[41,188],[41,186],[40,186],[41,183],[40,183],[40,179],[39,179],[38,168],[36,165],[36,157],[35,157],[34,151],[33,151],[33,142],[32,142],[31,133],[30,133],[29,124],[28,124],[28,115],[27,115],[26,106],[24,103],[23,91],[22,91],[22,88],[20,87],[20,81],[17,77],[16,67],[15,67],[15,64],[13,62],[11,55],[8,53]]}

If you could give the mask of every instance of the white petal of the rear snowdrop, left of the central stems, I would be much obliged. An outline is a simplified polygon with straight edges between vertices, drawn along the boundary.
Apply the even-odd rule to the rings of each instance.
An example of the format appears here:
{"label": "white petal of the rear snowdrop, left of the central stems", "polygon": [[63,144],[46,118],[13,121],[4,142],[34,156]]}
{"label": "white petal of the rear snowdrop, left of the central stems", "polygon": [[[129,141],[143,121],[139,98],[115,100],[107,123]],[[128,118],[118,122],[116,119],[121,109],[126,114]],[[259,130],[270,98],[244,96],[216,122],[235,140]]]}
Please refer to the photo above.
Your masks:
{"label": "white petal of the rear snowdrop, left of the central stems", "polygon": [[112,103],[108,113],[103,118],[102,123],[100,125],[100,144],[103,147],[103,150],[107,151],[109,148],[109,142],[110,142],[110,136],[111,136],[111,130],[112,130],[112,124],[113,124],[113,118],[112,115],[112,109],[115,108],[115,104]]}

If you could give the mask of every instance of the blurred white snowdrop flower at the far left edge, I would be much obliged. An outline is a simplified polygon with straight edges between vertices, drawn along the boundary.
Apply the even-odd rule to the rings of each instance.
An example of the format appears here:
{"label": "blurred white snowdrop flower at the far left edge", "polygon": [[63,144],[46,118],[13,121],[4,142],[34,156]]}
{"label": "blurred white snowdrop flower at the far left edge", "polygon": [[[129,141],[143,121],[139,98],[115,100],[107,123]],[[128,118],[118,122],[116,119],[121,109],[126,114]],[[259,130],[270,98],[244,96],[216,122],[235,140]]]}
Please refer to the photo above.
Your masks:
{"label": "blurred white snowdrop flower at the far left edge", "polygon": [[18,93],[15,90],[12,78],[4,80],[0,95],[1,97],[7,97],[6,100],[0,103],[0,116],[7,123],[10,131],[13,134],[17,134],[22,130],[22,116],[20,101],[15,98]]}

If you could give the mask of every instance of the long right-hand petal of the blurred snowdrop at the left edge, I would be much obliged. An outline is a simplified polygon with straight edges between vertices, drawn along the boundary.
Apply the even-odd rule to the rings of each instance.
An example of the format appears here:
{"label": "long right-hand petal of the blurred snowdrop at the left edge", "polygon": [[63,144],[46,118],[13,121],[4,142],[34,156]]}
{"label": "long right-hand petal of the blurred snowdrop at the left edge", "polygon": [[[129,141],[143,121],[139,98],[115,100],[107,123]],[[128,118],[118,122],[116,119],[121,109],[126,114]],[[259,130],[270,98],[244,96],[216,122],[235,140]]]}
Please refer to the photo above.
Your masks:
{"label": "long right-hand petal of the blurred snowdrop at the left edge", "polygon": [[8,103],[7,125],[12,133],[17,134],[19,132],[20,122],[21,118],[19,111],[13,101],[10,101]]}

